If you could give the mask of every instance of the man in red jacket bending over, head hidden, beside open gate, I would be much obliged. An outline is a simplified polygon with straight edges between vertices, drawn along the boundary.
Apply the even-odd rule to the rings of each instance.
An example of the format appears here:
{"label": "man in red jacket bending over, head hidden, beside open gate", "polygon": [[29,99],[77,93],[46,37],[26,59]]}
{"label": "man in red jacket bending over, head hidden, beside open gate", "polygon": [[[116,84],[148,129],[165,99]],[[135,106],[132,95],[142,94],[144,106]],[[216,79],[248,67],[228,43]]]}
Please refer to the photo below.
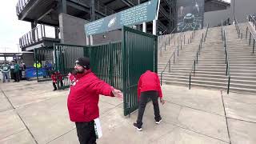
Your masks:
{"label": "man in red jacket bending over, head hidden, beside open gate", "polygon": [[134,127],[137,128],[138,131],[142,130],[142,118],[148,98],[152,100],[154,105],[155,123],[159,124],[162,121],[158,106],[158,97],[160,97],[160,102],[163,105],[165,101],[162,99],[162,90],[158,74],[150,70],[146,70],[146,72],[142,74],[138,80],[138,118],[137,123],[134,123]]}

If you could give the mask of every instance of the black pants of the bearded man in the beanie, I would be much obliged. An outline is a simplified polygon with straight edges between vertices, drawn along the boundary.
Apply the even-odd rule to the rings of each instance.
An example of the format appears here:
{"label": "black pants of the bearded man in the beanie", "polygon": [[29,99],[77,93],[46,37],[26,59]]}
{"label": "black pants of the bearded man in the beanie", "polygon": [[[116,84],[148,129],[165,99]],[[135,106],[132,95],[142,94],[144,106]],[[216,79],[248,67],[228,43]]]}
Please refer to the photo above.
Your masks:
{"label": "black pants of the bearded man in the beanie", "polygon": [[94,121],[75,122],[75,126],[77,127],[78,140],[80,144],[96,144]]}

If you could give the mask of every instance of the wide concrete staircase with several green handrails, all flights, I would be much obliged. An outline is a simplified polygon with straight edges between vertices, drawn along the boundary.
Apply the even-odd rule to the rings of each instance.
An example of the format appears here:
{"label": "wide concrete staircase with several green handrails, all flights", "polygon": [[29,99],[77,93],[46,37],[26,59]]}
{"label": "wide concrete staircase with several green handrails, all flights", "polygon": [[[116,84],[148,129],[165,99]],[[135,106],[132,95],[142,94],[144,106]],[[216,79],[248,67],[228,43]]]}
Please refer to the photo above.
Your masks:
{"label": "wide concrete staircase with several green handrails, all flights", "polygon": [[[224,26],[226,30],[227,45],[230,62],[230,91],[242,93],[256,93],[256,54],[252,54],[252,46],[246,42],[246,26],[248,23],[239,24],[242,38],[238,38],[235,26]],[[190,72],[194,58],[198,50],[202,32],[198,30],[192,43],[183,46],[179,51],[175,63],[170,63],[162,73],[162,83],[174,85],[189,85]],[[160,57],[158,54],[158,74],[166,66],[175,46],[166,50]],[[218,90],[227,90],[228,77],[226,76],[226,62],[224,44],[222,42],[221,27],[214,27],[208,30],[206,42],[202,44],[202,50],[198,56],[195,74],[191,74],[191,87],[206,86]]]}

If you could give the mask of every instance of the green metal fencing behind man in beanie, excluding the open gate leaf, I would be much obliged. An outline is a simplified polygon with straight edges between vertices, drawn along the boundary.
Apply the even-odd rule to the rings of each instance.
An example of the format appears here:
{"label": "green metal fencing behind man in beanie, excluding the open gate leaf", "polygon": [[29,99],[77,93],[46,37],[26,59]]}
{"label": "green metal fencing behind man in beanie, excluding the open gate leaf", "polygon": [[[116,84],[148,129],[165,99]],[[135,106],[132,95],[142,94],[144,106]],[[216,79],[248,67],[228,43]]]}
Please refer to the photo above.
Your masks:
{"label": "green metal fencing behind man in beanie, excluding the open gate leaf", "polygon": [[66,77],[74,70],[74,62],[81,57],[90,58],[91,70],[105,82],[122,90],[122,55],[121,42],[111,42],[94,46],[74,46],[55,44],[56,67],[63,75],[63,86],[58,82],[58,88],[70,86]]}

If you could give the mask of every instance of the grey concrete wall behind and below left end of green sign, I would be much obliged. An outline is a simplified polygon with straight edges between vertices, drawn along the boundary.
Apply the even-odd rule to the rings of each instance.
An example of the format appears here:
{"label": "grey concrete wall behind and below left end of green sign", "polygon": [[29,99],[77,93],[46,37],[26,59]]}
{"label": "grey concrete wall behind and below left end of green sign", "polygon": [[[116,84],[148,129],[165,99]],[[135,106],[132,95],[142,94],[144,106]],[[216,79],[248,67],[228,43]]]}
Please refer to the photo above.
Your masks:
{"label": "grey concrete wall behind and below left end of green sign", "polygon": [[[84,25],[88,21],[70,16],[68,14],[59,14],[59,26],[61,34],[61,43],[71,45],[86,45],[86,35]],[[105,35],[105,37],[103,37]],[[93,36],[94,45],[120,41],[122,31],[114,30],[105,34],[95,34]]]}

